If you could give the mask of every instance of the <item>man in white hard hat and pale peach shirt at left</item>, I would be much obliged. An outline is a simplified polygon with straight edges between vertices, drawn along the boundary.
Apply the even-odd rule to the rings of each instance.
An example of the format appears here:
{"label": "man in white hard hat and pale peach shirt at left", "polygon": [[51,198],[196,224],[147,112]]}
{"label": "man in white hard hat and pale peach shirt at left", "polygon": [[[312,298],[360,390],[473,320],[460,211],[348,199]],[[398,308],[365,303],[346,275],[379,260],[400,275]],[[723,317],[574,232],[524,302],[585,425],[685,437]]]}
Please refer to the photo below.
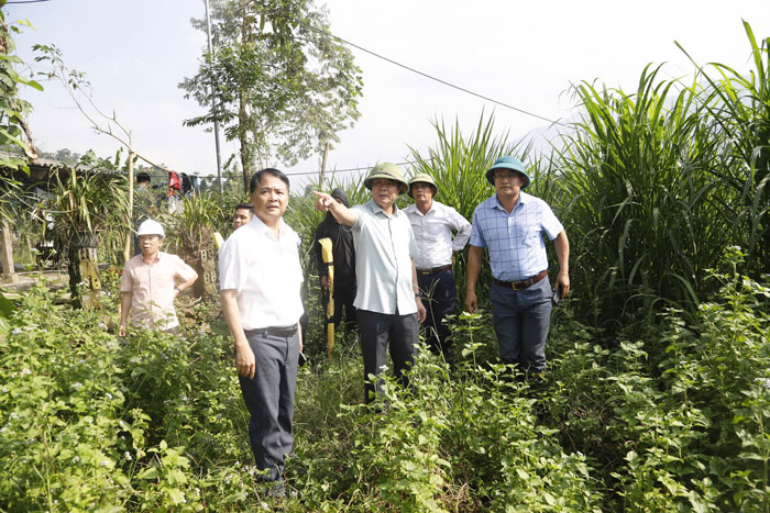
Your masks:
{"label": "man in white hard hat and pale peach shirt at left", "polygon": [[174,300],[179,292],[193,287],[198,274],[178,256],[161,250],[165,232],[157,221],[144,221],[136,236],[141,254],[123,267],[118,334],[125,335],[129,314],[135,327],[178,333]]}

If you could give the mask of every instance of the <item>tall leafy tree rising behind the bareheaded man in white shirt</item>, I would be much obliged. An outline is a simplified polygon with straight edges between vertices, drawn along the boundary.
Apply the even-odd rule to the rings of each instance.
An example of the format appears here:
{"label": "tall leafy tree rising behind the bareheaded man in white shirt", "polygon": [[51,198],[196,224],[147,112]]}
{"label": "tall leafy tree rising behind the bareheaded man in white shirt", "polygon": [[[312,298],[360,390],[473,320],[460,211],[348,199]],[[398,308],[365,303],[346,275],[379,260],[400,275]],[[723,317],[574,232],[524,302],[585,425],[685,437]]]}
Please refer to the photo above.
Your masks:
{"label": "tall leafy tree rising behind the bareheaded man in white shirt", "polygon": [[327,12],[312,0],[216,0],[211,11],[213,53],[179,83],[207,112],[185,125],[218,121],[239,142],[244,188],[256,163],[294,165],[339,142],[360,115],[362,79]]}

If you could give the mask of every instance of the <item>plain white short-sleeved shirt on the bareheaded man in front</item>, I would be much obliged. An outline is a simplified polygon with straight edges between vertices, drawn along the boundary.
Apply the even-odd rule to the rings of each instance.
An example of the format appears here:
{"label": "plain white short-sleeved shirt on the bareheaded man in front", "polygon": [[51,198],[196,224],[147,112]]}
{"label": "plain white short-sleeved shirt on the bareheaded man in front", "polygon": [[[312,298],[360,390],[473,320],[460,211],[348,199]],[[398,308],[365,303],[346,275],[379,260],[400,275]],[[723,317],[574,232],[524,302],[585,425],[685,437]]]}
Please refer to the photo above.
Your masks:
{"label": "plain white short-sleeved shirt on the bareheaded man in front", "polygon": [[296,325],[302,315],[299,236],[283,220],[278,237],[260,218],[235,230],[219,250],[219,288],[235,290],[244,330]]}

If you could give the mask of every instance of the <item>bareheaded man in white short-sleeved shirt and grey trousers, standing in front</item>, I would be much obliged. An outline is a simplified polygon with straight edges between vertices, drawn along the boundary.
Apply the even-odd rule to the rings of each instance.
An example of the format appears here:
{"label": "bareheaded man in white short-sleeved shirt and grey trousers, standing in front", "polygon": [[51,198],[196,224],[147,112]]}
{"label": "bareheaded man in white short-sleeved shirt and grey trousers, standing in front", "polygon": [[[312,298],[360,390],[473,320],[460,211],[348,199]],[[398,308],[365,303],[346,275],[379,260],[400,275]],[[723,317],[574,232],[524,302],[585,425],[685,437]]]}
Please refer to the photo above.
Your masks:
{"label": "bareheaded man in white short-sleeved shirt and grey trousers, standing in front", "polygon": [[283,220],[289,180],[277,169],[254,174],[254,216],[228,237],[219,252],[224,320],[235,342],[249,437],[257,468],[283,495],[284,457],[294,438],[294,393],[301,350],[299,236]]}

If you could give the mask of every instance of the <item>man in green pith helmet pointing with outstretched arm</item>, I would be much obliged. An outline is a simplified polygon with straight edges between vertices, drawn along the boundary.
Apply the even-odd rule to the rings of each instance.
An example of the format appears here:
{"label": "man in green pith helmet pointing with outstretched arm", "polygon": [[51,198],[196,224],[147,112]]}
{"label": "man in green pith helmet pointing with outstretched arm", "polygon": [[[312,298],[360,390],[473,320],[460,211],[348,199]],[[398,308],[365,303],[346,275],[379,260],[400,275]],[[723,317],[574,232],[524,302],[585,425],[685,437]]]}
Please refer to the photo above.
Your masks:
{"label": "man in green pith helmet pointing with outstretched arm", "polygon": [[[382,373],[388,348],[396,377],[407,384],[404,371],[411,365],[426,309],[420,300],[415,257],[417,244],[406,214],[396,198],[408,185],[398,166],[377,164],[364,180],[372,200],[351,209],[326,192],[314,192],[316,209],[331,212],[353,233],[359,309],[359,333],[364,359],[365,400],[373,399],[370,375]],[[380,390],[382,380],[377,380]]]}

